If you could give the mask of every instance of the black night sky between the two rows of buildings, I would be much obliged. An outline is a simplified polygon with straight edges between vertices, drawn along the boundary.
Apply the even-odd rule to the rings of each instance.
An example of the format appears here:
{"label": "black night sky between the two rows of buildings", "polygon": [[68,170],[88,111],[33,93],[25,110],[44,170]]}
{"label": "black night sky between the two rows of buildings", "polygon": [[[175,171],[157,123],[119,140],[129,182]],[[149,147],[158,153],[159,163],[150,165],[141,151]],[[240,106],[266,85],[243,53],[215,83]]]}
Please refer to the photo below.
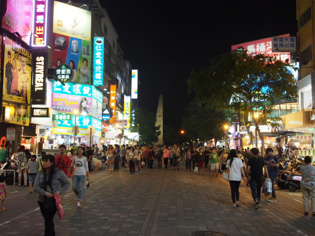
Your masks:
{"label": "black night sky between the two rows of buildings", "polygon": [[295,0],[100,4],[118,33],[123,59],[138,70],[139,106],[156,112],[158,94],[164,94],[164,124],[177,128],[186,104],[194,99],[186,84],[193,69],[206,67],[231,45],[297,32]]}

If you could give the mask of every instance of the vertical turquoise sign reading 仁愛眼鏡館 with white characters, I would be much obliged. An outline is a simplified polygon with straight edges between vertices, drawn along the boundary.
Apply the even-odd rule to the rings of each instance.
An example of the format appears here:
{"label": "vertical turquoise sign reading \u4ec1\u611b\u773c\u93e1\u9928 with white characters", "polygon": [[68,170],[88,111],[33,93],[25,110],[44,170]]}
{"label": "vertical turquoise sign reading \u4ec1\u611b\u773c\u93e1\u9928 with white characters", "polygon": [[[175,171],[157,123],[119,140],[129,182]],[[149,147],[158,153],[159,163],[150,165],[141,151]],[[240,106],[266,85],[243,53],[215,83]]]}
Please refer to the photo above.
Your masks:
{"label": "vertical turquoise sign reading \u4ec1\u611b\u773c\u93e1\u9928 with white characters", "polygon": [[94,38],[93,85],[103,86],[104,37]]}

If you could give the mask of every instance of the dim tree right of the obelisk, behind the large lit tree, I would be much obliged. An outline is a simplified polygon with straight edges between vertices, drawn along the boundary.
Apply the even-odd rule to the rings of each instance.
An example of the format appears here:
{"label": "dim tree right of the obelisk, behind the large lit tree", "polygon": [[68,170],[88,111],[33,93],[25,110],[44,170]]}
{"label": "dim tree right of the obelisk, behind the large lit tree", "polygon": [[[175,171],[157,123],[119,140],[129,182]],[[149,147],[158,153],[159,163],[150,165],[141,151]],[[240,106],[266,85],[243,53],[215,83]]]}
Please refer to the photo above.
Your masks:
{"label": "dim tree right of the obelisk, behind the large lit tree", "polygon": [[189,138],[219,140],[224,135],[224,126],[229,123],[228,111],[205,109],[204,104],[199,105],[197,102],[188,104],[186,114],[183,117],[183,128]]}

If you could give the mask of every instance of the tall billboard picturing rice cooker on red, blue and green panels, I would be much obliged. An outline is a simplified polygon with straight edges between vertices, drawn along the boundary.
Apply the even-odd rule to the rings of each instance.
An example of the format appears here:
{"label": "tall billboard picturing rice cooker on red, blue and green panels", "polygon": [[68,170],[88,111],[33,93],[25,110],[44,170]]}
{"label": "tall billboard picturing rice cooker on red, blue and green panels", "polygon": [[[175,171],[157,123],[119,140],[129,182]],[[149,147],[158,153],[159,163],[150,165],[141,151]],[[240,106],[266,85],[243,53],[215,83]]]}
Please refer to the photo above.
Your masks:
{"label": "tall billboard picturing rice cooker on red, blue and green panels", "polygon": [[91,84],[91,12],[54,1],[52,68],[72,67],[71,82]]}

